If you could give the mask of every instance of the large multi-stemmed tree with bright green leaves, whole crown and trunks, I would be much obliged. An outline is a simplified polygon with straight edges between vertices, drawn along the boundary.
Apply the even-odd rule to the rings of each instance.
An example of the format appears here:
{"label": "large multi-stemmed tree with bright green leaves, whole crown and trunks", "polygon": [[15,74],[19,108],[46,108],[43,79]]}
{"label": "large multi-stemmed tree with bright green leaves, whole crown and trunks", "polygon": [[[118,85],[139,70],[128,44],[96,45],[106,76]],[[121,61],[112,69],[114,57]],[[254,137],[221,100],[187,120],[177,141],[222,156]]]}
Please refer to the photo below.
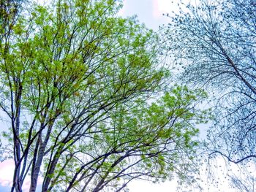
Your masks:
{"label": "large multi-stemmed tree with bright green leaves, whole crown and trunks", "polygon": [[169,72],[159,64],[158,37],[116,17],[120,6],[30,4],[4,36],[0,107],[15,161],[11,191],[28,177],[30,191],[121,191],[136,178],[186,177],[194,124],[207,115],[195,104],[206,94],[162,91]]}

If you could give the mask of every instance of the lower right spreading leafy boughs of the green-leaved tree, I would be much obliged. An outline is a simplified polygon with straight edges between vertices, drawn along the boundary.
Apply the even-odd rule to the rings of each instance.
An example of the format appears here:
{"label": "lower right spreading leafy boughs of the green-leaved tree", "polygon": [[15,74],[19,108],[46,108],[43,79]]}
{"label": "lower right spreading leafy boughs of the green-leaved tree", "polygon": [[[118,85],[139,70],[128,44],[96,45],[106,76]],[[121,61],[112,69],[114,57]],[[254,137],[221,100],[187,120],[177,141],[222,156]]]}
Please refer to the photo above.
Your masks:
{"label": "lower right spreading leafy boughs of the green-leaved tree", "polygon": [[[118,105],[108,120],[88,131],[91,138],[72,147],[73,153],[83,153],[80,158],[70,161],[67,156],[71,152],[61,155],[59,169],[53,174],[61,185],[54,188],[100,191],[108,187],[118,191],[135,178],[157,182],[174,173],[186,178],[198,145],[192,139],[198,133],[192,120],[206,119],[192,106],[197,96],[204,94],[175,88],[149,105],[143,101]],[[69,172],[58,174],[64,166]]]}

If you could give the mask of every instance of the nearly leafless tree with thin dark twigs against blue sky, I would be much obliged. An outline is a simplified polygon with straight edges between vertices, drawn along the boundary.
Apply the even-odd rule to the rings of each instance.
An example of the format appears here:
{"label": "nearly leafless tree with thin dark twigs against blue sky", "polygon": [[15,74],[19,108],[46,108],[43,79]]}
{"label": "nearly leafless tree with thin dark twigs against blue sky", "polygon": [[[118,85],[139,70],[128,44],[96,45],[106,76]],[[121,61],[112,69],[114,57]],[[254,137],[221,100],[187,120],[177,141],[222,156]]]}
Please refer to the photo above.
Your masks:
{"label": "nearly leafless tree with thin dark twigs against blue sky", "polygon": [[256,160],[255,1],[205,1],[181,4],[165,34],[181,79],[214,92],[211,155],[229,161]]}

